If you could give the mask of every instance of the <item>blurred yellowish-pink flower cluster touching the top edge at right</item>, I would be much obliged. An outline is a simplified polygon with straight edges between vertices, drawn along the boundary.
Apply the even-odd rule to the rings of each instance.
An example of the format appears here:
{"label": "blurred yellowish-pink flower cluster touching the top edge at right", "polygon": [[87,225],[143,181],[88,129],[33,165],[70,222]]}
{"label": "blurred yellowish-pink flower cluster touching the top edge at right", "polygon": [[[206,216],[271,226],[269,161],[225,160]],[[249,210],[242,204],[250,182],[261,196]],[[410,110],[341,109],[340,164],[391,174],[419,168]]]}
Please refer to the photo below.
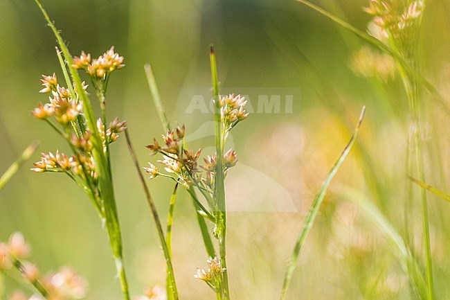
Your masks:
{"label": "blurred yellowish-pink flower cluster touching the top edge at right", "polygon": [[408,44],[412,30],[420,24],[424,8],[423,0],[370,0],[364,10],[374,17],[370,26],[372,35]]}

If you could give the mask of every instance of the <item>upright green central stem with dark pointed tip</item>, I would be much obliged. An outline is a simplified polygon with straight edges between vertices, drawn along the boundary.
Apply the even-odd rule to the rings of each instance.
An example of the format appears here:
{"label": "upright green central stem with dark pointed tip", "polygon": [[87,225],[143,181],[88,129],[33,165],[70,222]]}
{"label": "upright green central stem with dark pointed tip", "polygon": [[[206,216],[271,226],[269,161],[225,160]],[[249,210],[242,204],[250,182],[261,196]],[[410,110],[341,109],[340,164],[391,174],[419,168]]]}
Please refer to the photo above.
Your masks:
{"label": "upright green central stem with dark pointed tip", "polygon": [[222,132],[222,121],[219,103],[219,85],[217,80],[217,64],[215,60],[214,48],[210,46],[211,78],[213,81],[213,99],[215,103],[214,123],[215,123],[215,149],[217,164],[215,167],[215,196],[217,206],[215,207],[215,219],[217,227],[217,238],[219,239],[220,263],[225,271],[222,273],[222,299],[230,299],[228,288],[228,267],[226,266],[226,202],[224,184],[224,136]]}

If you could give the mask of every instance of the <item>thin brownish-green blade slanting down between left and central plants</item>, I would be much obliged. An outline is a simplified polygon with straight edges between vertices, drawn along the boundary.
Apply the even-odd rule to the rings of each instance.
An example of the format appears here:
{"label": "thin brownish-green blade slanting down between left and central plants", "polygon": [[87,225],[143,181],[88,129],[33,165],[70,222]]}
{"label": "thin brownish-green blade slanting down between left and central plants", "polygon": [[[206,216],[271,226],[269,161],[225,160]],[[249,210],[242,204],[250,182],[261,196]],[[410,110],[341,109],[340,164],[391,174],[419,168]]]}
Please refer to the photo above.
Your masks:
{"label": "thin brownish-green blade slanting down between left and central plants", "polygon": [[141,173],[141,167],[139,165],[139,162],[138,162],[138,159],[136,156],[136,152],[134,152],[132,142],[129,139],[128,130],[125,130],[125,138],[127,139],[128,150],[129,150],[130,155],[132,156],[134,166],[136,167],[136,171],[138,173],[139,180],[141,181],[141,184],[142,184],[142,187],[143,187],[143,190],[145,193],[145,197],[147,199],[147,203],[150,206],[150,211],[153,216],[154,224],[156,226],[156,231],[158,231],[159,241],[161,243],[161,247],[163,248],[163,253],[164,253],[164,257],[165,257],[165,263],[166,263],[166,267],[167,267],[168,276],[170,277],[170,284],[171,284],[170,289],[172,290],[173,299],[178,300],[179,297],[178,297],[178,291],[177,291],[177,284],[175,283],[174,271],[173,271],[173,267],[172,267],[172,258],[170,257],[168,244],[164,237],[163,227],[161,226],[159,214],[158,214],[158,211],[156,210],[156,206],[154,204],[152,195],[150,195],[150,191],[148,190],[147,184],[145,183],[145,179]]}

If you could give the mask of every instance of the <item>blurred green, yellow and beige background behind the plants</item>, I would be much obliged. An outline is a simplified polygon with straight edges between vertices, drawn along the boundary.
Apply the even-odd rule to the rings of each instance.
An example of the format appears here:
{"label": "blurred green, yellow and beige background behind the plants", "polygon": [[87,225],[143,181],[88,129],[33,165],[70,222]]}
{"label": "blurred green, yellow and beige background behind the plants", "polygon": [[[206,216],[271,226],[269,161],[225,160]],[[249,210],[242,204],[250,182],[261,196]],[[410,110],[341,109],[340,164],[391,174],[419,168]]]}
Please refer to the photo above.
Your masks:
{"label": "blurred green, yellow and beige background behind the plants", "polygon": [[[366,30],[363,0],[323,0],[319,5]],[[108,115],[127,120],[144,166],[155,162],[143,147],[160,136],[161,123],[143,65],[152,64],[172,123],[185,123],[192,146],[213,145],[212,115],[186,112],[195,95],[208,94],[208,46],[217,51],[224,93],[293,97],[291,112],[255,113],[233,132],[240,165],[227,178],[231,212],[228,256],[233,299],[277,299],[285,263],[303,217],[334,159],[367,106],[359,145],[325,198],[294,274],[288,299],[410,299],[406,276],[383,236],[350,202],[334,193],[352,186],[368,195],[400,232],[415,233],[422,257],[420,206],[406,200],[408,103],[398,78],[383,82],[354,72],[352,55],[363,46],[332,21],[296,1],[42,1],[71,53],[94,57],[110,46],[125,57],[108,90]],[[450,2],[429,1],[420,35],[423,73],[449,102]],[[46,96],[39,78],[56,71],[55,38],[31,0],[0,1],[0,173],[39,139],[40,151],[68,150],[30,110]],[[282,102],[283,98],[282,96]],[[422,96],[426,176],[449,192],[450,118]],[[254,102],[253,102],[254,101]],[[125,265],[132,294],[164,284],[163,254],[125,139],[111,146]],[[42,272],[71,265],[89,281],[87,299],[120,299],[107,236],[89,199],[68,177],[28,171],[31,161],[0,192],[0,240],[21,231]],[[165,218],[172,183],[150,182]],[[417,195],[417,189],[414,189]],[[406,204],[408,204],[406,206]],[[429,195],[435,288],[450,299],[449,203]],[[411,215],[407,226],[404,215]],[[407,227],[407,228],[406,228]],[[179,193],[174,221],[174,265],[182,299],[213,299],[193,278],[206,264],[187,193]],[[5,281],[8,292],[17,283]],[[3,297],[1,295],[0,297]]]}

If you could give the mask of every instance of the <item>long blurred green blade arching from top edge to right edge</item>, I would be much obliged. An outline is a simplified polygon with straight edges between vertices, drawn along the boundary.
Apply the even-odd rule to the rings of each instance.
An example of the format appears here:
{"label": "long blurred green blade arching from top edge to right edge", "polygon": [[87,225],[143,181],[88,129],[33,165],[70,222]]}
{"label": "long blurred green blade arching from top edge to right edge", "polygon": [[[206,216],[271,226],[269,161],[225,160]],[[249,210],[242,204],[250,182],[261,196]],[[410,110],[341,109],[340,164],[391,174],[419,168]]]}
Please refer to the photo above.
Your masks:
{"label": "long blurred green blade arching from top edge to right edge", "polygon": [[445,104],[445,100],[441,96],[438,89],[436,89],[431,84],[431,82],[426,80],[426,78],[424,78],[419,72],[417,72],[417,70],[414,69],[411,66],[411,64],[406,62],[406,60],[404,60],[404,58],[402,58],[402,56],[399,55],[399,53],[393,51],[393,49],[391,49],[389,46],[387,46],[386,44],[381,42],[379,39],[376,39],[375,37],[372,37],[368,33],[365,33],[363,30],[359,30],[358,28],[352,26],[351,24],[348,24],[343,19],[336,17],[335,15],[333,15],[330,12],[327,12],[327,10],[324,10],[323,8],[321,8],[319,6],[316,6],[315,4],[313,4],[307,0],[297,0],[297,1],[305,4],[305,6],[309,6],[309,8],[312,8],[313,10],[316,10],[316,12],[319,12],[319,13],[321,13],[321,15],[324,15],[325,17],[331,19],[339,26],[342,26],[343,28],[350,30],[352,33],[354,33],[355,35],[357,35],[364,41],[368,42],[369,44],[372,44],[372,46],[375,46],[375,47],[379,48],[381,51],[384,51],[384,52],[388,53],[389,55],[391,55],[393,58],[395,58],[395,60],[397,60],[397,62],[399,64],[402,65],[404,70],[409,74],[409,76],[411,76],[411,78],[414,78],[415,80],[417,80],[417,82],[419,82],[421,85],[426,87],[426,89],[428,89],[431,92],[431,94],[433,94],[433,96],[435,96],[435,100],[437,101],[438,105],[440,105],[440,107],[442,109],[444,109],[444,111],[447,114],[450,115],[450,109]]}

